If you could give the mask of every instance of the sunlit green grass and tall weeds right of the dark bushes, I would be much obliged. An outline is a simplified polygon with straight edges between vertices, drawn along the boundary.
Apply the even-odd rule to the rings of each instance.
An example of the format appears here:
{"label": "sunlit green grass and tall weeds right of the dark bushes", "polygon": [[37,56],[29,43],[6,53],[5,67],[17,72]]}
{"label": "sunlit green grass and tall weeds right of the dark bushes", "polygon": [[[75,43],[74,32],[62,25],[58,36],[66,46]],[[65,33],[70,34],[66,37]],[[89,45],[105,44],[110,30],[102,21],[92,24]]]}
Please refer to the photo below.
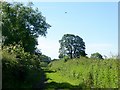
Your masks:
{"label": "sunlit green grass and tall weeds right of the dark bushes", "polygon": [[89,58],[56,60],[49,64],[47,89],[118,88],[118,60]]}

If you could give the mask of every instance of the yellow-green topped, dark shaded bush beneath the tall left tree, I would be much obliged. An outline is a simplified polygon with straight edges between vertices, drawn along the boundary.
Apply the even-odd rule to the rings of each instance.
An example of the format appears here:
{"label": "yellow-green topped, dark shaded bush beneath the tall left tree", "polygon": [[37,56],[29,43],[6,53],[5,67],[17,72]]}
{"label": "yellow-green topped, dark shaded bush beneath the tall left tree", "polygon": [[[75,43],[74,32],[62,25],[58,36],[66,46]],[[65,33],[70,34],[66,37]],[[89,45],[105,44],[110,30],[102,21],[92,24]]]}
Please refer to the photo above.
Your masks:
{"label": "yellow-green topped, dark shaded bush beneath the tall left tree", "polygon": [[3,46],[2,49],[3,88],[32,88],[42,73],[40,59],[34,54],[24,52],[20,45]]}

